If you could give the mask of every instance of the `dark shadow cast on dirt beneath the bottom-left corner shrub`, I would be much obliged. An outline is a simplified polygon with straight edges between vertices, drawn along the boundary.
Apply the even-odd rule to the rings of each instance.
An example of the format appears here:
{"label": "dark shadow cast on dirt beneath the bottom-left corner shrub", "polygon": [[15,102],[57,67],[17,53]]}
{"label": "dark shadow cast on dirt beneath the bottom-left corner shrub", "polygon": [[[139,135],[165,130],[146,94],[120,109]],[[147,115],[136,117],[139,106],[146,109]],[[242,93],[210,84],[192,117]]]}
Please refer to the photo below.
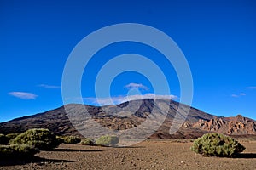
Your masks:
{"label": "dark shadow cast on dirt beneath the bottom-left corner shrub", "polygon": [[30,156],[30,157],[23,157],[23,158],[16,158],[16,157],[9,157],[9,158],[1,158],[0,160],[0,167],[3,166],[15,166],[15,165],[25,165],[28,163],[62,163],[62,162],[73,162],[73,161],[67,161],[67,160],[55,160],[55,159],[45,159],[38,156]]}

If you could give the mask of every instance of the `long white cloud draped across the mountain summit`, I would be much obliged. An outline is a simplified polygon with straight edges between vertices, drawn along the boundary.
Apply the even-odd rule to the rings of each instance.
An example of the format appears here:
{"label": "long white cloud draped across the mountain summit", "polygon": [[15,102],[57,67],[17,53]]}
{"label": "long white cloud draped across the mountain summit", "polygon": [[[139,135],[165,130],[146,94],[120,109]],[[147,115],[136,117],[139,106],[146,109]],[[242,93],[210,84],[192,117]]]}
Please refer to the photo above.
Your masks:
{"label": "long white cloud draped across the mountain summit", "polygon": [[126,101],[131,101],[136,99],[178,99],[178,97],[175,95],[143,94],[143,95],[117,96],[112,98],[84,98],[84,102],[95,104],[95,105],[119,105]]}

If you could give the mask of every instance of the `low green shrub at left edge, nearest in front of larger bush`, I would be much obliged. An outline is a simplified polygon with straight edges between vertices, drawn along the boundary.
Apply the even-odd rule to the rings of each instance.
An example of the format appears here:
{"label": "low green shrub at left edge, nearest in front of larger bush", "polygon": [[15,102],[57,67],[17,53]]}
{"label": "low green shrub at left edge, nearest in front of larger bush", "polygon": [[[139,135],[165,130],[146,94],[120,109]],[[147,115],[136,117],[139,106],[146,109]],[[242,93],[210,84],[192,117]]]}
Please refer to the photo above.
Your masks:
{"label": "low green shrub at left edge, nearest in front of larger bush", "polygon": [[33,156],[39,150],[28,144],[0,145],[0,158]]}

